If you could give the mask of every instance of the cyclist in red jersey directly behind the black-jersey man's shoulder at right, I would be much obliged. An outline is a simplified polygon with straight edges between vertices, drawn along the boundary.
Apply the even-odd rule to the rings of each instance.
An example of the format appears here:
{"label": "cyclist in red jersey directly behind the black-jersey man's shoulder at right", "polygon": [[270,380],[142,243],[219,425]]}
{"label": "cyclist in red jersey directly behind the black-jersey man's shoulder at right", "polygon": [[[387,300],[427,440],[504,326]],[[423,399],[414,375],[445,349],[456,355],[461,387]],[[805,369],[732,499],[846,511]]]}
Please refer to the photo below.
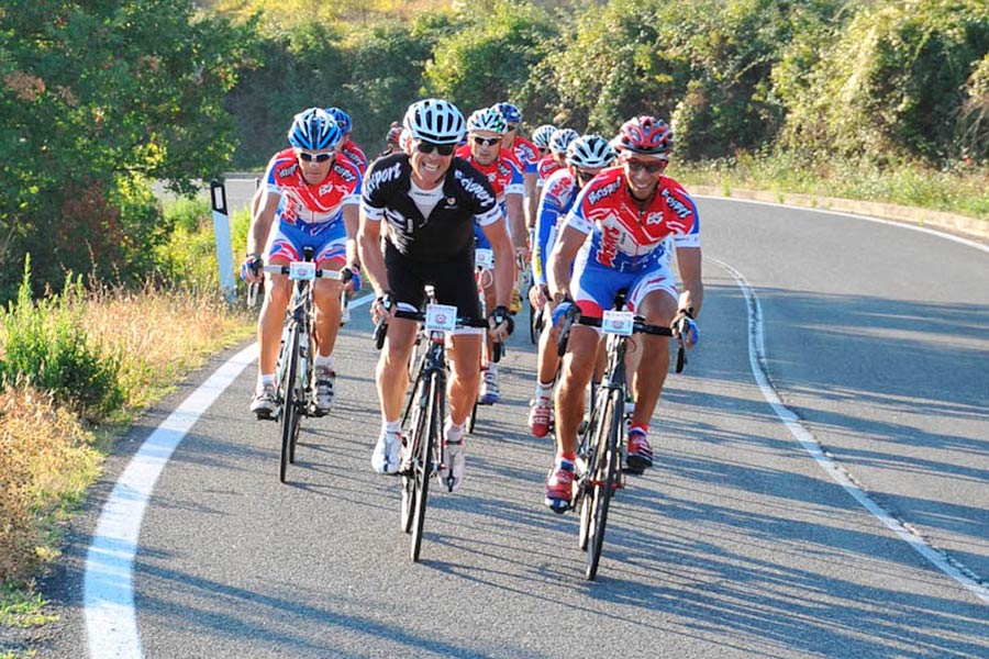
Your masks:
{"label": "cyclist in red jersey directly behind the black-jersey man's shoulder at right", "polygon": [[[457,149],[457,157],[467,160],[491,183],[508,222],[509,235],[518,252],[524,247],[527,239],[522,211],[522,171],[514,156],[501,148],[505,131],[504,118],[498,110],[484,108],[474,112],[467,120],[467,144]],[[479,227],[475,227],[475,237],[478,247],[490,248],[490,243]],[[513,261],[512,272],[514,269]],[[493,309],[496,294],[493,282],[489,282],[484,289],[485,304],[488,309]],[[492,348],[493,340],[489,336],[486,355],[491,355]],[[493,405],[501,400],[498,391],[498,365],[487,361],[484,373],[478,402],[482,405]]]}

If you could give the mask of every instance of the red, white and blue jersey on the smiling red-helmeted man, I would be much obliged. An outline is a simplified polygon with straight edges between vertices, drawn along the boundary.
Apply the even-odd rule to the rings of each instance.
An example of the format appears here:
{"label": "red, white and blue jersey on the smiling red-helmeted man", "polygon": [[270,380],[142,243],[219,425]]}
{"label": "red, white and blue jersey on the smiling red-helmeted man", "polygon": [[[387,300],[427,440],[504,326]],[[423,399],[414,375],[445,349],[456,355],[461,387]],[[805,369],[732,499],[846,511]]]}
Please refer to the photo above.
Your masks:
{"label": "red, white and blue jersey on the smiling red-helmeted man", "polygon": [[677,247],[700,247],[697,205],[671,178],[660,177],[648,205],[638,210],[622,167],[605,169],[580,191],[567,226],[590,234],[581,257],[621,272],[643,272],[667,261],[668,236]]}

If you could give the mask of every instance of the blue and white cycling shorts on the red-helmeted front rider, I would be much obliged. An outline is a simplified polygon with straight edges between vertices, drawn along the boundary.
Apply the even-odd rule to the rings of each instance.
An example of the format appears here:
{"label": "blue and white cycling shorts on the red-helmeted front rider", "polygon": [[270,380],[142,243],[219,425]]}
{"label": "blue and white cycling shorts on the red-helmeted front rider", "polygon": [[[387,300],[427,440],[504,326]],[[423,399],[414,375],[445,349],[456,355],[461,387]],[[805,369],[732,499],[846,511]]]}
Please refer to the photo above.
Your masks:
{"label": "blue and white cycling shorts on the red-helmeted front rider", "polygon": [[653,291],[664,291],[674,300],[678,299],[677,281],[667,265],[643,272],[621,272],[589,260],[582,254],[577,257],[570,293],[581,315],[600,319],[602,310],[611,309],[614,297],[623,289],[629,291],[625,302],[631,311],[635,311]]}

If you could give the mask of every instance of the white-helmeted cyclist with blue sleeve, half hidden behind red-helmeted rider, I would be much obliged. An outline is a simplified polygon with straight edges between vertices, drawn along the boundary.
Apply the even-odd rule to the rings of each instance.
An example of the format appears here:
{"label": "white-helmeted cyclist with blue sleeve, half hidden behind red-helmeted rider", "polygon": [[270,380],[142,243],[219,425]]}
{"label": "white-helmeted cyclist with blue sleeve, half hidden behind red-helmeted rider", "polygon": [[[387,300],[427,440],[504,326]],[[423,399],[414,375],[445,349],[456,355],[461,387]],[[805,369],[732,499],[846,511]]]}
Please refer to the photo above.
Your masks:
{"label": "white-helmeted cyclist with blue sleeve, half hidden behind red-helmeted rider", "polygon": [[[557,131],[559,132],[559,131]],[[600,135],[585,135],[570,142],[566,153],[567,166],[556,171],[543,187],[540,212],[532,246],[532,282],[529,299],[535,309],[543,309],[548,298],[545,258],[552,252],[559,224],[574,205],[577,193],[602,169],[609,167],[616,154],[608,139]],[[551,323],[543,325],[536,360],[536,390],[529,414],[529,427],[536,437],[549,432],[551,396],[556,380],[559,357],[556,353],[558,334]]]}

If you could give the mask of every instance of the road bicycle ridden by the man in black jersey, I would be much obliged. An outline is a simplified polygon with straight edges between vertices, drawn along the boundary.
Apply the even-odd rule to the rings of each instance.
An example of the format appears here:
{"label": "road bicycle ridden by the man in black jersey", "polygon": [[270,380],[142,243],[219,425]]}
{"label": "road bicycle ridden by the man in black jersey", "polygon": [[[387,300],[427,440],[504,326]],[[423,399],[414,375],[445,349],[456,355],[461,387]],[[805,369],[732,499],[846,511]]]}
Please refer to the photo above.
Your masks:
{"label": "road bicycle ridden by the man in black jersey", "polygon": [[[431,303],[425,312],[396,310],[395,317],[422,323],[429,343],[419,366],[415,387],[407,407],[402,434],[404,446],[399,474],[402,478],[402,530],[412,534],[410,556],[418,561],[422,548],[430,479],[443,467],[443,423],[446,418],[446,333],[460,327],[487,327],[488,322],[457,315],[456,306]],[[388,331],[385,319],[375,328],[378,349]],[[411,410],[411,414],[409,414]],[[452,478],[452,477],[451,477]],[[442,482],[442,481],[441,481]],[[443,483],[447,489],[452,482]]]}

